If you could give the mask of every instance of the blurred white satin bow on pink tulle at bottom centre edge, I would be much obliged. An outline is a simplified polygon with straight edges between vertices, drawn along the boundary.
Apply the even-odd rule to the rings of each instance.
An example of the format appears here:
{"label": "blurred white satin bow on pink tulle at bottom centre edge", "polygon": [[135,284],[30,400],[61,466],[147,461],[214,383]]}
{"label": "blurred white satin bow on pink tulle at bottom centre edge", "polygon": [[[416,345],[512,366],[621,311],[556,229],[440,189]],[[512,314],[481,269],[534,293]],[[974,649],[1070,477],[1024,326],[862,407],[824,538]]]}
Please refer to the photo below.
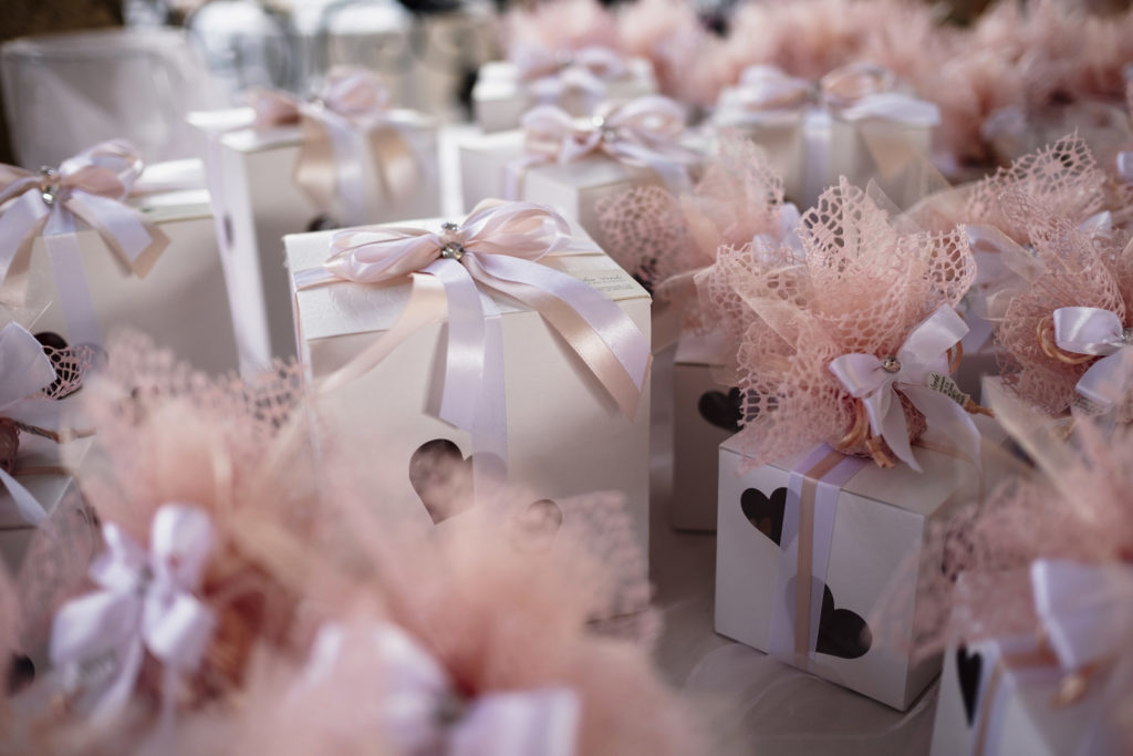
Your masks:
{"label": "blurred white satin bow on pink tulle at bottom centre edge", "polygon": [[[360,632],[360,637],[358,637]],[[368,649],[348,644],[370,644]],[[320,630],[305,674],[307,686],[333,682],[334,669],[376,652],[383,670],[381,727],[401,754],[434,756],[573,756],[581,704],[565,687],[461,696],[441,664],[409,634],[389,622]]]}

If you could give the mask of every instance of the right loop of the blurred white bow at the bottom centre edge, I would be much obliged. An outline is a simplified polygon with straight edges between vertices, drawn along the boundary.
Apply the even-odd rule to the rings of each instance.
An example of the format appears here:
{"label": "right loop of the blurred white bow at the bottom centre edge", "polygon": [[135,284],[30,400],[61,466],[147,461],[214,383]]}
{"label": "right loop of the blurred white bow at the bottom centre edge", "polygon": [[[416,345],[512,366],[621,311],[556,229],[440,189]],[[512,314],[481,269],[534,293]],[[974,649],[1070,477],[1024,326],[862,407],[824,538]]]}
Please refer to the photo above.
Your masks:
{"label": "right loop of the blurred white bow at the bottom centre edge", "polygon": [[574,756],[581,705],[565,688],[480,697],[453,729],[449,756]]}

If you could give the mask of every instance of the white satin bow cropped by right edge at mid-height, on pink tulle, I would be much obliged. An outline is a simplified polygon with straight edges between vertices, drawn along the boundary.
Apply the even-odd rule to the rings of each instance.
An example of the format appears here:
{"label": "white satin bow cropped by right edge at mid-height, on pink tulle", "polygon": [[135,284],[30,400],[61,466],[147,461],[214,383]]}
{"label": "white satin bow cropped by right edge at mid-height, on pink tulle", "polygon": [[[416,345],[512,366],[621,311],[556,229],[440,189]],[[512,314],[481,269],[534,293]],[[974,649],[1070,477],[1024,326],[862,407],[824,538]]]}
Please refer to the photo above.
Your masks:
{"label": "white satin bow cropped by right edge at mid-height, on pink tulle", "polygon": [[1133,385],[1133,330],[1099,307],[1059,307],[1054,314],[1055,343],[1064,351],[1101,357],[1079,380],[1077,392],[1101,407],[1121,407]]}

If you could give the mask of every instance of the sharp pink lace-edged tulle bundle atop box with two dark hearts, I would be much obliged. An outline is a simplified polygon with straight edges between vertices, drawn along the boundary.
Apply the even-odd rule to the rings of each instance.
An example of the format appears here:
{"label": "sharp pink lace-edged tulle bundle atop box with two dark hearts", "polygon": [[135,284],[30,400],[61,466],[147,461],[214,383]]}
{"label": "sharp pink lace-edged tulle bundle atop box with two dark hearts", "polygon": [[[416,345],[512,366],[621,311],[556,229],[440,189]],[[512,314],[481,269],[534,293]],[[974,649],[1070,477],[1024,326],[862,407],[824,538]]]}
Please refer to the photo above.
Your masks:
{"label": "sharp pink lace-edged tulle bundle atop box with two dark hearts", "polygon": [[[957,304],[976,274],[966,238],[960,229],[901,232],[844,179],[803,214],[798,236],[800,249],[765,238],[722,247],[697,275],[705,317],[739,345],[732,377],[743,396],[742,449],[750,465],[821,442],[885,460],[886,445],[830,362],[893,355],[937,308]],[[914,439],[923,416],[901,401]]]}

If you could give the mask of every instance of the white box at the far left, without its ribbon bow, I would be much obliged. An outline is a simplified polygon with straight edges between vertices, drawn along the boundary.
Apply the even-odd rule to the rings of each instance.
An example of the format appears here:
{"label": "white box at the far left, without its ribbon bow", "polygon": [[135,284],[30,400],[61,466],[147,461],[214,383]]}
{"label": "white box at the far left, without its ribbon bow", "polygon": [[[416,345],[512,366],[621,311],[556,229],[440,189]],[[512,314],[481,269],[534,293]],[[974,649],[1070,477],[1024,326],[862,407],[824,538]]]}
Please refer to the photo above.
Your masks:
{"label": "white box at the far left, without its ribbon bow", "polygon": [[[169,246],[145,278],[138,278],[97,232],[78,231],[86,286],[103,338],[119,328],[134,329],[197,368],[210,373],[236,369],[236,339],[208,193],[163,192],[128,203],[156,222],[169,237]],[[34,332],[53,331],[71,341],[42,238],[32,247],[28,283],[29,303],[50,303],[35,321]]]}

